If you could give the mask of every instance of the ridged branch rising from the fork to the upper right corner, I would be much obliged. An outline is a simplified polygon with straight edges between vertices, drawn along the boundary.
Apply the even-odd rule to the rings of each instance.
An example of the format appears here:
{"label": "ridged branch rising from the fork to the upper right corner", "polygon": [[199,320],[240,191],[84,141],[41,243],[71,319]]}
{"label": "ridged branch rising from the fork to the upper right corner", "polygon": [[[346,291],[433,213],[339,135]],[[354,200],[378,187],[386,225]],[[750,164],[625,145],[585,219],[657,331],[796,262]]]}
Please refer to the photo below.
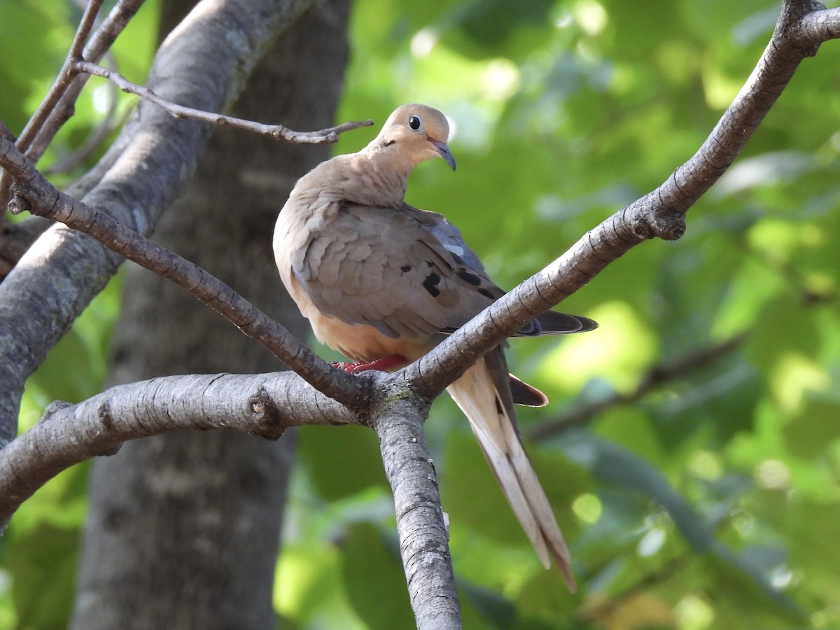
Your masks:
{"label": "ridged branch rising from the fork to the upper right corner", "polygon": [[[412,386],[423,396],[437,396],[476,359],[569,297],[629,249],[654,237],[679,239],[685,233],[685,212],[727,171],[801,60],[816,54],[823,35],[840,34],[837,11],[818,8],[822,5],[810,0],[785,2],[753,73],[696,154],[654,191],[607,218],[551,265],[405,368]],[[807,31],[816,33],[814,39],[806,39],[803,24],[821,24]]]}

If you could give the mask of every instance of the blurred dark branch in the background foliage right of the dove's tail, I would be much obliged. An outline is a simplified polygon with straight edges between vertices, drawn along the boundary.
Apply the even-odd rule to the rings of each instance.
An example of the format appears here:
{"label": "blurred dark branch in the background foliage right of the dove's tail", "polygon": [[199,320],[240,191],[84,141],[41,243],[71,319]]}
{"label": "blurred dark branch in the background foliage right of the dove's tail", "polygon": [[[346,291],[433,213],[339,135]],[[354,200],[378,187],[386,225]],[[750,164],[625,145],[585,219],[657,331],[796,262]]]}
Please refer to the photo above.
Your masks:
{"label": "blurred dark branch in the background foliage right of the dove's tail", "polygon": [[532,431],[528,432],[528,437],[533,440],[550,438],[557,433],[562,433],[570,428],[580,427],[581,425],[591,422],[594,417],[598,416],[601,412],[604,412],[610,407],[638,401],[657,387],[662,386],[669,381],[675,381],[683,378],[691,372],[699,370],[700,368],[720,359],[722,356],[729,354],[732,350],[738,348],[738,346],[743,343],[744,339],[746,339],[746,335],[740,334],[732,337],[732,339],[727,339],[720,344],[696,350],[695,352],[687,354],[680,360],[673,361],[671,363],[654,365],[653,368],[648,370],[648,373],[644,376],[642,382],[638,384],[634,391],[627,394],[615,392],[612,396],[606,396],[600,401],[592,402],[591,404],[572,409],[570,412],[565,413],[562,417],[559,417],[554,421],[541,423],[538,427],[533,428]]}

